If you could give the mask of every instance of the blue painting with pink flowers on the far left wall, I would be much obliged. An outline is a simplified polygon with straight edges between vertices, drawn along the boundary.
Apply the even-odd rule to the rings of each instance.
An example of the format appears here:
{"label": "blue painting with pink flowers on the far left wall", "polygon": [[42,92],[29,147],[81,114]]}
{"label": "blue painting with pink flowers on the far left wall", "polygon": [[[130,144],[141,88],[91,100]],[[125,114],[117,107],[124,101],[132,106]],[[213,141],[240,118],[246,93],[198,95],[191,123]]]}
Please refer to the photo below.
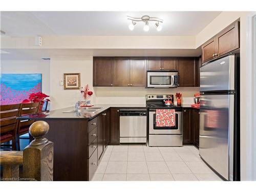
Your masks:
{"label": "blue painting with pink flowers on the far left wall", "polygon": [[41,92],[41,74],[1,74],[1,105],[21,103]]}

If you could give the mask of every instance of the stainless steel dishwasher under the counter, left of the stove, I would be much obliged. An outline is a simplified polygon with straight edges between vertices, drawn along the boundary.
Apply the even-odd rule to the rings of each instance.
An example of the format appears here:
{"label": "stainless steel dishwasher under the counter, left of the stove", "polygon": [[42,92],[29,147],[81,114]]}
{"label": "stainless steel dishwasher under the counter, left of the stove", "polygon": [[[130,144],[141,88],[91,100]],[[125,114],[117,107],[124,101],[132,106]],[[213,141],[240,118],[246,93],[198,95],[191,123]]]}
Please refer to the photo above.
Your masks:
{"label": "stainless steel dishwasher under the counter, left of the stove", "polygon": [[146,109],[120,109],[120,143],[146,143]]}

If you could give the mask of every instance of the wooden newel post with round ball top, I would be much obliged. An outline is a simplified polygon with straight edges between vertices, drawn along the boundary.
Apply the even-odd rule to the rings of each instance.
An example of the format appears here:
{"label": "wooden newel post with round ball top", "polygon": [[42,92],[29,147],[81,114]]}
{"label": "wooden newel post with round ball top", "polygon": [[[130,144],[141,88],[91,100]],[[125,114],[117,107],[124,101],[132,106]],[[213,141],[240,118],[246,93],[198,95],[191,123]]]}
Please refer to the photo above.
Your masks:
{"label": "wooden newel post with round ball top", "polygon": [[24,179],[53,180],[53,142],[45,138],[48,131],[45,121],[36,121],[29,127],[29,134],[35,139],[23,151]]}

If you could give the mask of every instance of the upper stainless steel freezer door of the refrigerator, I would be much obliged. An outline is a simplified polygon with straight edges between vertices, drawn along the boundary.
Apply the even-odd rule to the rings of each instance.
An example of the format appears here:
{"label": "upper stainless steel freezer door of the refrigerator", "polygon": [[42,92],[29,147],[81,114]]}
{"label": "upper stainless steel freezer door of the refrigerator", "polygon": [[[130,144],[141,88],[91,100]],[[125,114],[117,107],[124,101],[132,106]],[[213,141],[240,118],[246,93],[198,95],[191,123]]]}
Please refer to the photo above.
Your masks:
{"label": "upper stainless steel freezer door of the refrigerator", "polygon": [[235,56],[229,55],[200,68],[200,92],[234,90]]}

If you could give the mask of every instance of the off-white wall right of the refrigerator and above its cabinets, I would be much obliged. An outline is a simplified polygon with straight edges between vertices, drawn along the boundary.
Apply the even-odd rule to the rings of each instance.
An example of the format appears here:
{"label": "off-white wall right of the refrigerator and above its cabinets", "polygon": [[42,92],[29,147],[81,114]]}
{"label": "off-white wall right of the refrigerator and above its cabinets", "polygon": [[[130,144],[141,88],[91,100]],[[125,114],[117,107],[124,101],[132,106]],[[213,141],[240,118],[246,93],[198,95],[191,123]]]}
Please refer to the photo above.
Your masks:
{"label": "off-white wall right of the refrigerator and above its cabinets", "polygon": [[251,87],[248,83],[248,77],[251,76],[251,68],[248,62],[247,47],[247,22],[249,12],[222,12],[218,15],[205,29],[196,36],[196,45],[201,46],[206,40],[216,35],[219,31],[240,18],[240,144],[241,144],[241,180],[253,179],[253,158],[255,149],[252,145],[252,126],[250,117],[252,116],[251,108]]}

